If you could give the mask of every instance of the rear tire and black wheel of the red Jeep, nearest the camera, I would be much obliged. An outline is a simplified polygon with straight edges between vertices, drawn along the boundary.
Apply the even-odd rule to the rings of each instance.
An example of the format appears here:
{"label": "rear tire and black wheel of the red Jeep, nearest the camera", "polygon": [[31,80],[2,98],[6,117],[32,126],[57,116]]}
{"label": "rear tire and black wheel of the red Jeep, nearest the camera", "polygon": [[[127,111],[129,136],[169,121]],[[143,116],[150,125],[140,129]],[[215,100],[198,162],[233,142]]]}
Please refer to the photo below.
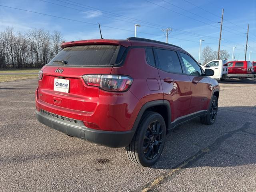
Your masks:
{"label": "rear tire and black wheel of the red Jeep, nearest the camera", "polygon": [[166,140],[164,118],[156,112],[147,111],[130,144],[126,146],[128,158],[140,166],[152,166],[161,156]]}

